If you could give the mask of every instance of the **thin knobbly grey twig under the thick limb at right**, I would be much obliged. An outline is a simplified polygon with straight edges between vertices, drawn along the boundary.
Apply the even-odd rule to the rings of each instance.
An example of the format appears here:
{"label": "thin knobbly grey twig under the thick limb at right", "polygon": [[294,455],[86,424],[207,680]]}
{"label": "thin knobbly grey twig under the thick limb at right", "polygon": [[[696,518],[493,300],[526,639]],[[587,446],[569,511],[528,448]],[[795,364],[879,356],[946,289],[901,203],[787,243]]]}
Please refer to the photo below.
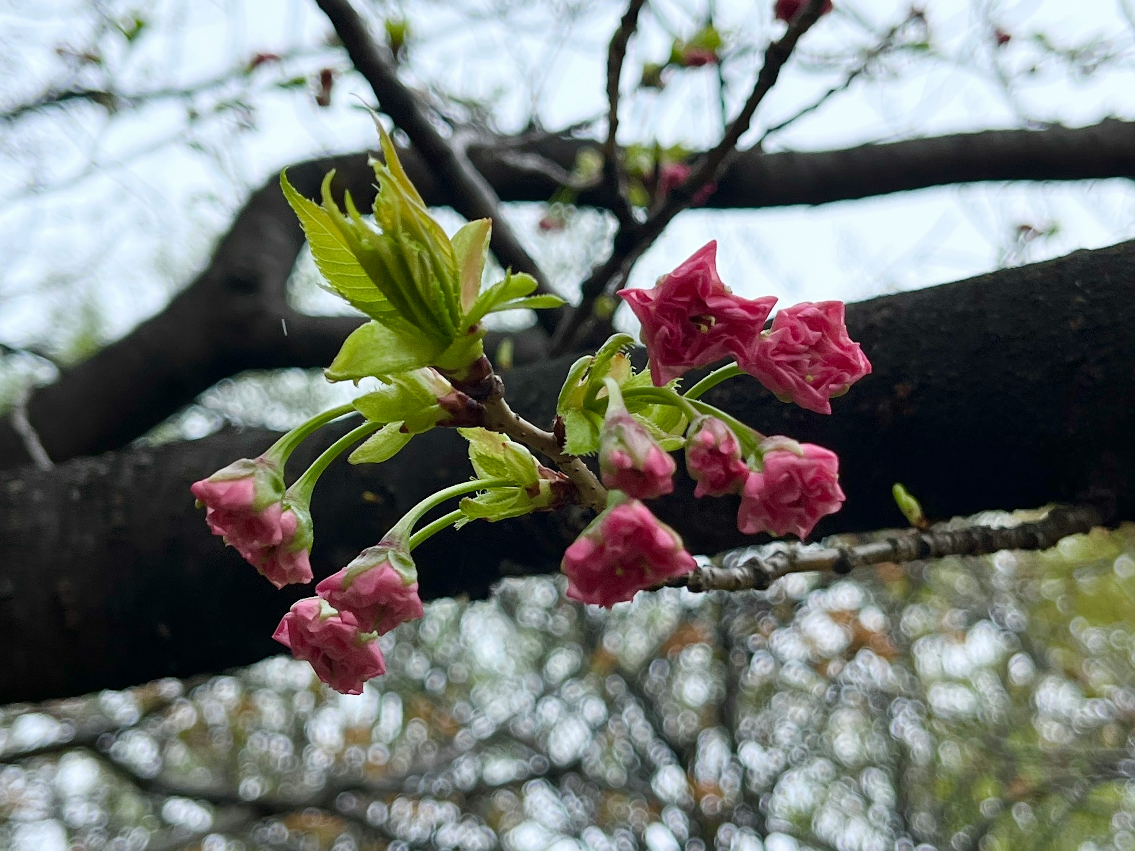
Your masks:
{"label": "thin knobbly grey twig under the thick limb at right", "polygon": [[884,562],[914,562],[943,556],[975,556],[1002,549],[1048,549],[1061,538],[1081,534],[1104,522],[1092,505],[1058,505],[1043,519],[1006,529],[969,525],[898,532],[892,537],[854,547],[808,547],[774,544],[764,551],[754,548],[731,550],[693,573],[667,584],[691,591],[764,590],[789,573],[834,571],[850,573],[854,567]]}

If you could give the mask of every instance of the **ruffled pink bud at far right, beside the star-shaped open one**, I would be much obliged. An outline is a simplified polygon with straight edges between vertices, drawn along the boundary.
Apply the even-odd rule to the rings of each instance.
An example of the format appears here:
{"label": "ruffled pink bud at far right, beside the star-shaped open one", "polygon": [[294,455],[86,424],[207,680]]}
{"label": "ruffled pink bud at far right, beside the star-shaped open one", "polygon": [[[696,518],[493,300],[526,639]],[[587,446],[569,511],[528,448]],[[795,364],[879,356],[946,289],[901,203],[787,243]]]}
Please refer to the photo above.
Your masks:
{"label": "ruffled pink bud at far right, beside the star-shaped open one", "polygon": [[871,361],[843,325],[843,302],[801,302],[784,307],[756,346],[741,353],[738,365],[783,402],[817,414],[871,372]]}

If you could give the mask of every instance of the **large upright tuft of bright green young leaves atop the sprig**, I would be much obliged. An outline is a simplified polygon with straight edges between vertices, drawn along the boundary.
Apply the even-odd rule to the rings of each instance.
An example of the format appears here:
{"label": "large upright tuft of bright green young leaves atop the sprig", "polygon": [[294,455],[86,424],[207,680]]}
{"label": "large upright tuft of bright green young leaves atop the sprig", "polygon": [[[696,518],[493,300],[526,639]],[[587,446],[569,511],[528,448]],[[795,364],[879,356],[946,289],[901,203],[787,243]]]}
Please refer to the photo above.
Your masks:
{"label": "large upright tuft of bright green young leaves atop the sprig", "polygon": [[351,194],[346,212],[331,196],[334,172],[322,184],[322,204],[303,197],[280,175],[316,266],[327,286],[373,321],[347,338],[327,377],[331,381],[385,377],[437,366],[456,374],[484,354],[480,321],[516,307],[555,307],[563,300],[531,296],[536,281],[506,275],[480,292],[491,226],[471,221],[453,239],[429,214],[379,126],[386,162],[372,160],[379,182],[375,225],[363,219]]}

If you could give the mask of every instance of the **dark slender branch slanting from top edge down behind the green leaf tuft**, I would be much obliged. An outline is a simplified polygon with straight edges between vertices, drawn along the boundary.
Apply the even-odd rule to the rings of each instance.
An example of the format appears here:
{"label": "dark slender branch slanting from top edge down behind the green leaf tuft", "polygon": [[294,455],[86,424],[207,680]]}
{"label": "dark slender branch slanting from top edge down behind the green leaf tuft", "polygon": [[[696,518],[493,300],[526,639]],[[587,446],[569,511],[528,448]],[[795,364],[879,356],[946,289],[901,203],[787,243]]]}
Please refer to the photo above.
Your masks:
{"label": "dark slender branch slanting from top edge down behind the green leaf tuft", "polygon": [[[491,219],[490,247],[501,264],[528,272],[541,293],[550,293],[547,278],[521,245],[512,226],[501,216],[499,199],[489,182],[473,168],[464,150],[446,140],[414,94],[398,79],[393,62],[384,56],[367,32],[367,25],[350,0],[318,0],[319,8],[335,27],[355,69],[370,84],[379,106],[405,130],[452,195],[453,205],[466,219]],[[541,323],[550,331],[556,317],[540,312]]]}

